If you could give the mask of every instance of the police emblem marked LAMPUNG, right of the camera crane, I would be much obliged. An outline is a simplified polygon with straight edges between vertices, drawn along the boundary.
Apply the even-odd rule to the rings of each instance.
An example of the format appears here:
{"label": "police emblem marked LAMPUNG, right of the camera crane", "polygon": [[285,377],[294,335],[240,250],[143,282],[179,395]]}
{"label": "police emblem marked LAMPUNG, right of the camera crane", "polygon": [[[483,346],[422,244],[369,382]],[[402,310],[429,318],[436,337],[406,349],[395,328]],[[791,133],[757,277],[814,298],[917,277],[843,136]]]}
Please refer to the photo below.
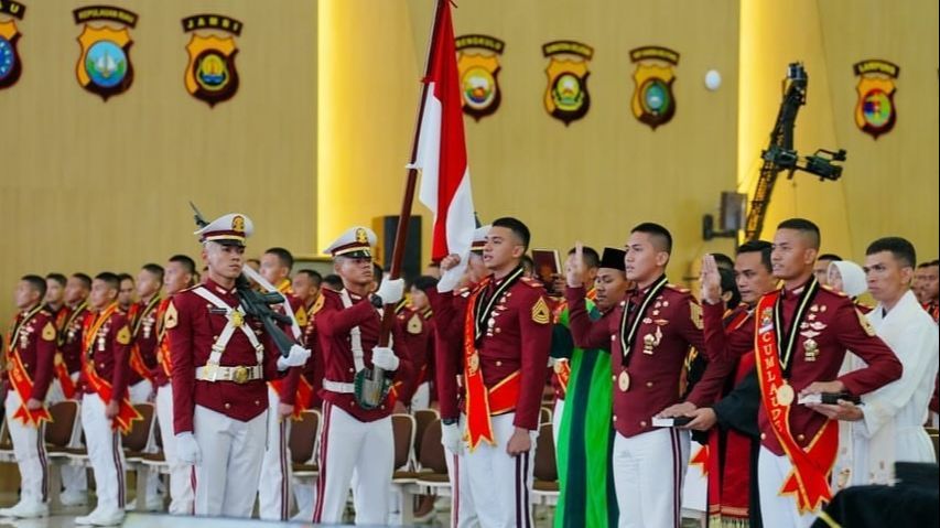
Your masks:
{"label": "police emblem marked LAMPUNG, right of the camera crane", "polygon": [[878,136],[890,132],[897,120],[894,79],[900,74],[900,67],[873,58],[855,64],[852,69],[858,76],[858,84],[855,86],[858,93],[855,125],[863,132],[878,139]]}

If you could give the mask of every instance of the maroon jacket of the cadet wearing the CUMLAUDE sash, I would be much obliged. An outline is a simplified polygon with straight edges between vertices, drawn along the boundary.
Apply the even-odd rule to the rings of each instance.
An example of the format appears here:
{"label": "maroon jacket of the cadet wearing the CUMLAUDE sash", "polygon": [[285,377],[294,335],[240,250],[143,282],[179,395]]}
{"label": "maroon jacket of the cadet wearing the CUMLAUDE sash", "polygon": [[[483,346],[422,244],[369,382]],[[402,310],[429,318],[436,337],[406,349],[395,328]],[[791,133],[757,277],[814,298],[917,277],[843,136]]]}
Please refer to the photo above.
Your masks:
{"label": "maroon jacket of the cadet wearing the CUMLAUDE sash", "polygon": [[[789,328],[793,321],[803,288],[806,285],[796,290],[785,289],[780,293],[784,299],[785,328]],[[759,314],[757,319],[759,320]],[[752,340],[754,340],[754,331],[752,326]],[[862,396],[900,377],[901,364],[897,356],[879,337],[875,336],[875,331],[865,316],[855,309],[852,300],[841,293],[825,287],[820,288],[800,323],[799,332],[790,359],[789,378],[790,385],[798,394],[813,381],[839,379],[849,392]],[[809,338],[807,335],[817,343],[815,360],[807,360],[804,345]],[[868,366],[836,377],[846,349],[851,349]],[[809,446],[825,421],[826,418],[823,414],[796,401],[790,407],[790,431],[797,444],[803,449]],[[774,454],[782,456],[784,449],[777,441],[767,410],[763,405],[757,413],[757,424],[760,429],[760,443]]]}

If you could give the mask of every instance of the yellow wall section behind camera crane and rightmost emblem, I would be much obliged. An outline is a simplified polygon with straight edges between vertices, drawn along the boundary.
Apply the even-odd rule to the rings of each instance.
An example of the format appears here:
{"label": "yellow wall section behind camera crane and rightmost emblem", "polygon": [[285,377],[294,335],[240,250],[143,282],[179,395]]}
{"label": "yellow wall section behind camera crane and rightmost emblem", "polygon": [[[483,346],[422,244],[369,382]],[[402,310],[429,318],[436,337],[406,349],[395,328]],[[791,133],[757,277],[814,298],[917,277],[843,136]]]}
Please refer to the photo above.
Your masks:
{"label": "yellow wall section behind camera crane and rightmost emblem", "polygon": [[[874,140],[855,127],[857,78],[852,65],[884,58],[900,66],[894,131]],[[760,149],[780,103],[786,65],[803,61],[808,103],[797,119],[796,147],[849,152],[843,177],[820,183],[780,180],[765,237],[790,216],[820,224],[823,251],[862,261],[877,237],[899,235],[920,260],[938,250],[938,4],[931,0],[799,0],[742,2],[738,176],[753,190]]]}

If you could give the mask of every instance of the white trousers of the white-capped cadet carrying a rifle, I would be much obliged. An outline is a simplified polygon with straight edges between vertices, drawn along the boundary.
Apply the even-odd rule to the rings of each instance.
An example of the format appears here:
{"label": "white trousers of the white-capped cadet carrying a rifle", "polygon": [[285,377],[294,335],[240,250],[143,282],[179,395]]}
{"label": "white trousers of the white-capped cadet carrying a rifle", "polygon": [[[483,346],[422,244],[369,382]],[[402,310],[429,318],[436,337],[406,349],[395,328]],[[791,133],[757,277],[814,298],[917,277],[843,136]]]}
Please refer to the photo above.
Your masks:
{"label": "white trousers of the white-capped cadet carrying a rifle", "polygon": [[196,515],[251,517],[267,423],[267,412],[244,422],[196,406],[193,433],[202,453],[193,467]]}

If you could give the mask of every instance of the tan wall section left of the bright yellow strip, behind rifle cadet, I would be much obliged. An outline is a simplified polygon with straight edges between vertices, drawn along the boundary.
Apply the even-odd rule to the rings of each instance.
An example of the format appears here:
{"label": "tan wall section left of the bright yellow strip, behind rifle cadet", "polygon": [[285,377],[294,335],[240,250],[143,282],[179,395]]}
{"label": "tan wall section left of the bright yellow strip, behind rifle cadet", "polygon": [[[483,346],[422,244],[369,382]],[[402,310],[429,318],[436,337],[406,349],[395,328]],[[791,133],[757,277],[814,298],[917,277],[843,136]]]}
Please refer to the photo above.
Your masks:
{"label": "tan wall section left of the bright yellow strip, behind rifle cadet", "polygon": [[[175,252],[198,256],[187,201],[206,215],[240,211],[249,252],[314,246],[316,6],[307,0],[120,1],[134,80],[102,103],[75,78],[80,28],[94,2],[28,1],[17,21],[23,75],[0,90],[0,317],[24,273],[137,272]],[[183,87],[181,19],[220,12],[244,22],[240,88],[214,109]],[[277,36],[277,37],[275,37]]]}

